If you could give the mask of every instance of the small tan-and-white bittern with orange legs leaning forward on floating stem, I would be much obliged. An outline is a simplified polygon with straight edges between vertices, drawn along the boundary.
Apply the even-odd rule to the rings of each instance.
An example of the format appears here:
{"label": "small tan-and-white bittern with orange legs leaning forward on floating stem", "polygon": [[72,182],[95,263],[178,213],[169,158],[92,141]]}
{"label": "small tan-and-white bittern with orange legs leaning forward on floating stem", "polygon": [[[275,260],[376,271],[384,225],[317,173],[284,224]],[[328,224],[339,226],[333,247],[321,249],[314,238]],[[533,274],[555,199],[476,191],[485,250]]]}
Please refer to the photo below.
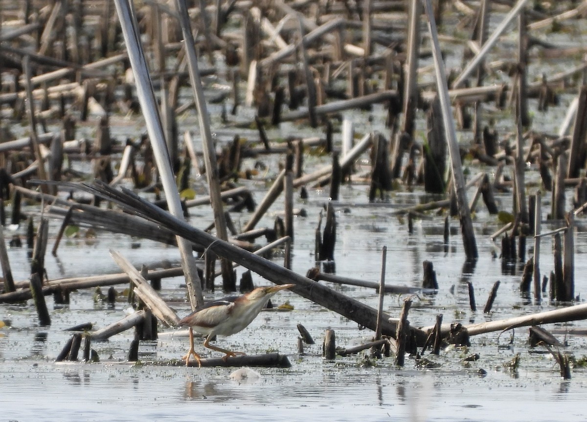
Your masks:
{"label": "small tan-and-white bittern with orange legs leaning forward on floating stem", "polygon": [[225,353],[222,356],[224,362],[229,356],[244,356],[243,352],[233,352],[210,344],[210,339],[215,335],[230,336],[243,329],[257,317],[261,309],[265,307],[269,298],[280,290],[295,287],[295,284],[280,284],[275,286],[257,287],[242,296],[229,296],[210,302],[196,308],[190,315],[180,320],[180,325],[190,327],[190,349],[185,360],[185,366],[189,366],[190,357],[194,356],[198,366],[202,366],[201,357],[194,350],[194,330],[206,335],[204,347],[217,352]]}

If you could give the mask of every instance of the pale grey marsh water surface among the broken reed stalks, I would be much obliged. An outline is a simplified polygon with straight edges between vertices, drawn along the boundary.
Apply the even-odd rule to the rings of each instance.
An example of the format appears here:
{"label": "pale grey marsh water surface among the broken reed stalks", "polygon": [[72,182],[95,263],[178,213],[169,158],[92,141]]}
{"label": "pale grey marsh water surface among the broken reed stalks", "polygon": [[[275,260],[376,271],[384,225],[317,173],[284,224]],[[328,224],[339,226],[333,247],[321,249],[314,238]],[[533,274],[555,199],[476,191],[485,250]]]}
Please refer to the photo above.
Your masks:
{"label": "pale grey marsh water surface among the broken reed stalks", "polygon": [[[568,40],[565,40],[568,41]],[[581,38],[575,40],[581,43]],[[450,59],[450,58],[449,58]],[[548,64],[556,72],[568,63]],[[533,67],[534,74],[541,73]],[[561,96],[561,104],[552,107],[548,114],[534,116],[535,130],[555,132],[562,121],[572,95]],[[535,110],[535,103],[531,103]],[[252,111],[244,110],[239,117],[250,118]],[[247,115],[251,113],[251,115]],[[212,117],[218,109],[212,108]],[[511,116],[502,113],[497,120],[498,129],[511,132]],[[358,132],[384,131],[384,111],[375,107],[370,113],[346,113],[355,121]],[[419,125],[422,124],[420,115]],[[114,117],[113,136],[124,138],[134,132],[143,132],[139,120],[129,122]],[[196,130],[193,115],[181,120],[182,127]],[[220,123],[212,122],[218,129],[218,142],[226,142],[238,133],[243,138],[257,138],[255,131],[222,130]],[[88,137],[95,122],[82,126]],[[298,136],[315,135],[295,124],[282,124],[269,131],[272,139],[284,139],[295,133]],[[465,136],[463,137],[466,138]],[[337,139],[338,140],[338,139]],[[466,140],[466,139],[465,139]],[[255,160],[244,162],[244,168],[254,168]],[[328,156],[307,155],[305,168],[330,162]],[[357,163],[367,169],[365,155]],[[89,171],[89,162],[74,162],[72,166]],[[492,172],[492,168],[465,161],[468,175],[477,171]],[[251,181],[240,180],[254,193],[257,203],[268,187],[268,181],[279,169],[276,162],[266,171],[258,173]],[[539,176],[534,166],[527,168],[527,192],[539,188]],[[194,186],[200,193],[205,178],[194,176]],[[478,203],[473,219],[477,235],[479,259],[474,266],[465,264],[458,220],[451,219],[451,237],[443,240],[444,216],[436,213],[424,219],[416,219],[414,232],[409,234],[407,220],[394,215],[399,207],[431,200],[420,188],[415,191],[400,188],[390,192],[380,203],[369,204],[368,187],[353,181],[342,187],[340,200],[334,202],[338,233],[335,249],[336,273],[345,277],[367,281],[380,279],[382,248],[387,247],[386,283],[420,287],[422,262],[432,261],[437,273],[439,290],[436,295],[416,295],[409,319],[413,326],[434,324],[436,315],[444,315],[444,322],[483,322],[515,317],[534,312],[555,309],[543,301],[534,304],[519,294],[521,266],[509,266],[502,270],[499,239],[493,241],[490,234],[502,226],[502,222],[487,213],[483,203]],[[468,193],[472,195],[472,191]],[[571,207],[572,190],[567,190],[567,205]],[[543,196],[543,219],[549,209],[549,194]],[[498,206],[511,211],[511,193],[497,195]],[[323,206],[329,200],[328,188],[309,190],[309,199],[296,196],[295,207],[304,209],[306,216],[297,216],[294,222],[295,239],[292,247],[292,269],[305,274],[315,266],[315,229]],[[278,200],[268,215],[258,224],[273,226],[274,217],[283,209]],[[38,219],[39,205],[26,207],[25,212]],[[232,215],[237,227],[247,221],[246,212]],[[194,226],[204,227],[212,220],[210,207],[190,210]],[[575,233],[575,294],[582,302],[587,288],[586,234],[582,231],[583,218],[578,219]],[[50,220],[49,247],[55,242],[59,228],[58,219]],[[544,223],[543,230],[558,228],[562,223]],[[7,227],[5,237],[25,233],[26,227]],[[120,251],[136,266],[151,267],[178,264],[178,252],[174,247],[162,246],[144,239],[97,232],[87,234],[82,227],[76,236],[63,239],[56,256],[49,253],[45,266],[50,279],[82,277],[86,275],[118,273],[120,270],[110,258],[109,250]],[[528,241],[527,257],[531,256]],[[549,274],[554,267],[552,241],[542,240],[541,273]],[[8,250],[15,280],[29,277],[30,258],[25,248]],[[497,255],[497,258],[495,257]],[[276,262],[283,257],[275,256]],[[238,268],[238,277],[242,273]],[[255,285],[269,284],[253,275]],[[492,285],[500,280],[497,300],[490,314],[481,310],[472,312],[469,307],[467,282],[473,283],[478,307],[482,308]],[[188,314],[182,278],[163,280],[161,295],[177,310],[180,316]],[[514,332],[488,333],[471,338],[471,347],[447,348],[440,356],[424,355],[430,364],[421,367],[414,359],[407,359],[402,369],[393,365],[393,358],[375,360],[365,353],[335,360],[322,358],[323,333],[332,328],[338,346],[348,347],[369,341],[373,333],[360,329],[355,322],[340,317],[311,302],[296,297],[291,292],[281,292],[273,302],[285,301],[294,307],[292,311],[264,311],[244,331],[229,338],[218,339],[221,347],[242,350],[248,354],[279,352],[291,362],[288,369],[251,368],[244,376],[233,369],[195,368],[168,366],[187,350],[185,331],[161,329],[157,341],[141,342],[139,363],[126,362],[126,355],[134,333],[130,330],[110,338],[106,342],[93,342],[92,348],[100,362],[55,363],[55,358],[70,337],[66,328],[92,322],[101,328],[123,318],[132,309],[124,300],[126,286],[117,286],[119,301],[113,307],[95,301],[94,291],[72,292],[69,305],[54,305],[48,298],[52,325],[38,324],[32,301],[25,304],[0,304],[0,319],[6,326],[0,329],[0,420],[8,421],[143,421],[173,420],[409,420],[409,421],[583,421],[585,420],[585,369],[575,367],[571,380],[562,380],[558,365],[544,349],[531,349],[527,329]],[[347,295],[373,307],[377,294],[360,287],[333,285]],[[221,297],[222,293],[207,293],[207,298]],[[105,291],[104,291],[105,293]],[[399,315],[405,296],[387,295],[384,310]],[[316,340],[298,353],[296,324],[303,324]],[[584,325],[584,324],[583,324]],[[580,327],[582,322],[559,324]],[[551,326],[552,327],[552,326]],[[548,328],[548,326],[546,327]],[[576,359],[585,352],[586,340],[582,336],[557,335],[565,341],[564,350]],[[197,351],[202,351],[201,340]],[[471,353],[479,353],[476,362],[465,362]],[[214,352],[203,352],[213,356]],[[519,366],[510,369],[509,363],[519,354]],[[484,370],[484,372],[480,371]]]}

